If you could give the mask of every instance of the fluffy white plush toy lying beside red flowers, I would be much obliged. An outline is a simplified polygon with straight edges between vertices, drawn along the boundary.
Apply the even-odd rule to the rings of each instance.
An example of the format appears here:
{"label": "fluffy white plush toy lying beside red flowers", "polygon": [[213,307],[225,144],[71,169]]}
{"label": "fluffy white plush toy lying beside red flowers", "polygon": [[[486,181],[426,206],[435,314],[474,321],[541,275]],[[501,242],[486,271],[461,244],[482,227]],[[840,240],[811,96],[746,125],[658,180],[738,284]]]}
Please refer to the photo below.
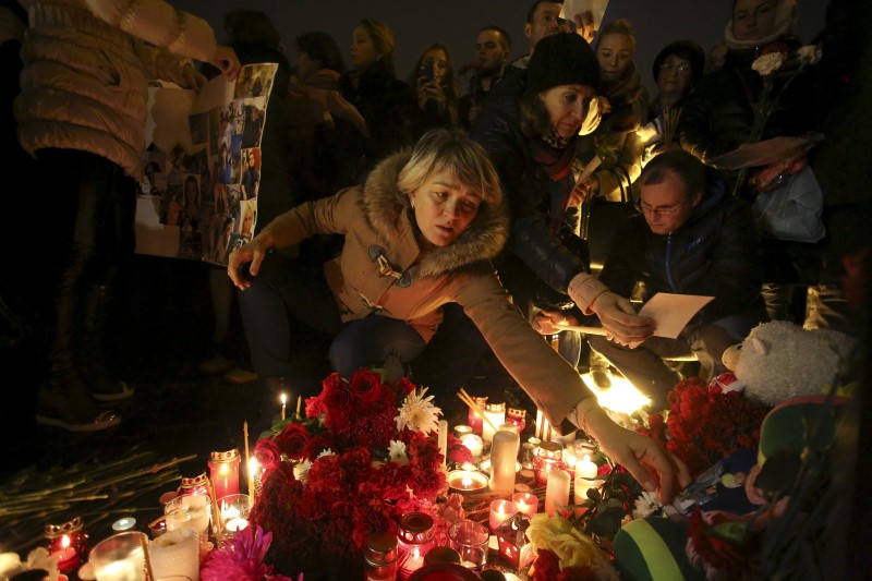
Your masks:
{"label": "fluffy white plush toy lying beside red flowers", "polygon": [[843,368],[853,339],[832,329],[806,330],[786,320],[762,323],[741,343],[724,351],[736,375],[729,390],[777,406],[797,396],[825,394]]}

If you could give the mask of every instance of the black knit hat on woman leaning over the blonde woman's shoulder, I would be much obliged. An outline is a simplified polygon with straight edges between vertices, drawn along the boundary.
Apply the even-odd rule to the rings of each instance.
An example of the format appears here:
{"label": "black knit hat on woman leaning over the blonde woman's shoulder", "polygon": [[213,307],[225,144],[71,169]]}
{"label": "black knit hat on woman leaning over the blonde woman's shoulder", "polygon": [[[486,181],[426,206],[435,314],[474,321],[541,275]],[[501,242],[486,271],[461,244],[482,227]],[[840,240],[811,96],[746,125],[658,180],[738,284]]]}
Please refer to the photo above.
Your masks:
{"label": "black knit hat on woman leaning over the blonde woman's shoulder", "polygon": [[576,33],[557,33],[538,43],[526,69],[526,88],[540,93],[558,85],[600,86],[596,55]]}

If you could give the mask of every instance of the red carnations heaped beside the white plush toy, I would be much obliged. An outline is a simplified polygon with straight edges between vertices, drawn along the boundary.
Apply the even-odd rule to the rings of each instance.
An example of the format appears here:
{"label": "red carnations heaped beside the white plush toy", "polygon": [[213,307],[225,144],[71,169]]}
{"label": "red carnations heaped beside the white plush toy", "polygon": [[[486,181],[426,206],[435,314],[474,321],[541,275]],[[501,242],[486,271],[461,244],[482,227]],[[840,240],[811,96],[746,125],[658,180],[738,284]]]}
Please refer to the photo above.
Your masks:
{"label": "red carnations heaped beside the white plush toy", "polygon": [[666,420],[649,415],[649,426],[637,432],[652,437],[682,460],[693,477],[738,448],[760,441],[760,425],[768,408],[755,406],[739,391],[725,390],[699,377],[679,383],[668,396]]}

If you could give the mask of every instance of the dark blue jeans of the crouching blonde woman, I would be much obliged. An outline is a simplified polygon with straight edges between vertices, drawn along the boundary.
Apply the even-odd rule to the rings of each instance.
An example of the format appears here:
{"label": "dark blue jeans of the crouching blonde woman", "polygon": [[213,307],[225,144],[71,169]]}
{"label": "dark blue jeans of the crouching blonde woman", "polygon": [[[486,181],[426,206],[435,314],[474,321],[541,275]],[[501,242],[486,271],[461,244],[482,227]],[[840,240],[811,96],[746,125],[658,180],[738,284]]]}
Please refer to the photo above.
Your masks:
{"label": "dark blue jeans of the crouching blonde woman", "polygon": [[360,367],[385,367],[396,380],[426,344],[405,322],[378,314],[342,324],[320,266],[270,253],[249,278],[252,287],[239,292],[239,304],[252,366],[261,376],[294,376],[289,315],[334,336],[327,355],[343,377]]}

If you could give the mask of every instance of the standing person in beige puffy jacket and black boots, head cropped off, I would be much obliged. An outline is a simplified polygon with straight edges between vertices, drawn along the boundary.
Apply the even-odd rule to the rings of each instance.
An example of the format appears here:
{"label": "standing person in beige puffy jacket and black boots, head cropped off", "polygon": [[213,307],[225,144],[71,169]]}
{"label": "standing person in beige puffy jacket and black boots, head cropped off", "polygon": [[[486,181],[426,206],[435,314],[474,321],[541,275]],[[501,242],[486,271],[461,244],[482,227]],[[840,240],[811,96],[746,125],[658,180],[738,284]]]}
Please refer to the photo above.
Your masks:
{"label": "standing person in beige puffy jacket and black boots, head cropped off", "polygon": [[[29,27],[21,94],[13,110],[25,150],[50,175],[34,199],[59,216],[45,232],[57,249],[44,264],[60,273],[56,327],[38,385],[36,421],[94,432],[121,417],[93,399],[118,401],[133,388],[110,378],[102,329],[119,267],[134,249],[143,175],[148,83],[197,88],[192,59],[235,78],[239,61],[209,25],[162,0],[22,0]],[[45,209],[43,209],[45,208]],[[37,215],[37,211],[34,213]]]}

